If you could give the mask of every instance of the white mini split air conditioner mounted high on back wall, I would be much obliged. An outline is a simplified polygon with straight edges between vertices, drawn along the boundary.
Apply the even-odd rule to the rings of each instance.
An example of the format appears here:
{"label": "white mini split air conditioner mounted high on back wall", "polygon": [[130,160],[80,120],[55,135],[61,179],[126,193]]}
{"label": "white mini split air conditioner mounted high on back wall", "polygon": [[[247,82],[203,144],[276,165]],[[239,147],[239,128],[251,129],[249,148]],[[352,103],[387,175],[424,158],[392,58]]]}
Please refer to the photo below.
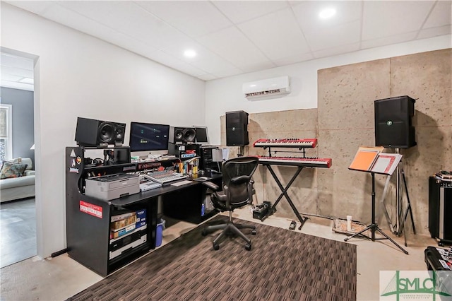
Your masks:
{"label": "white mini split air conditioner mounted high on back wall", "polygon": [[[263,79],[243,84],[244,97],[248,100],[278,98],[290,93],[289,76]],[[279,96],[278,96],[279,95]]]}

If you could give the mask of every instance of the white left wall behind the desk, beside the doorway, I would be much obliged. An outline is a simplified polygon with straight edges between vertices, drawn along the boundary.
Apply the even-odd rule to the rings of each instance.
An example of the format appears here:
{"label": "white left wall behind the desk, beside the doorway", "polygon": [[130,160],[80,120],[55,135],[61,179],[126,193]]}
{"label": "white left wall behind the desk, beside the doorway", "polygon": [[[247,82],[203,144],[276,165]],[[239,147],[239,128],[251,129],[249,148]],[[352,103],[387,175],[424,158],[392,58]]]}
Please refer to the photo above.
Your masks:
{"label": "white left wall behind the desk, beside the doorway", "polygon": [[35,64],[37,254],[66,247],[65,158],[77,117],[186,126],[204,119],[205,83],[1,2],[1,46]]}

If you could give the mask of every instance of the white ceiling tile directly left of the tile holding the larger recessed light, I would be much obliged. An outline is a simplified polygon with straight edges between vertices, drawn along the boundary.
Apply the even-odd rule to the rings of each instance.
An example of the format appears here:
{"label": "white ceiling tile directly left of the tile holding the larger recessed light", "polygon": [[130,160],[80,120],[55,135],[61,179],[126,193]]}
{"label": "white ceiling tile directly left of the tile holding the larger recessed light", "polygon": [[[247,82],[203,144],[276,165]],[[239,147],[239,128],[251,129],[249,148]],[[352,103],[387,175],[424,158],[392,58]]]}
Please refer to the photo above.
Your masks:
{"label": "white ceiling tile directly left of the tile holding the larger recessed light", "polygon": [[290,8],[238,25],[269,59],[309,52]]}

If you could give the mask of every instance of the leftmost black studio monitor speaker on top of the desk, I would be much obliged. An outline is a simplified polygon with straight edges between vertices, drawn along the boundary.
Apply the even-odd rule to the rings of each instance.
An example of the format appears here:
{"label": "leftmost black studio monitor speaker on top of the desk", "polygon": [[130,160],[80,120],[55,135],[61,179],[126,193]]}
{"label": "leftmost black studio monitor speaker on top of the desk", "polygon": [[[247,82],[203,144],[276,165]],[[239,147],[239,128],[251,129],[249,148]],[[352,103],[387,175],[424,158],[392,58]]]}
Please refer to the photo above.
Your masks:
{"label": "leftmost black studio monitor speaker on top of the desk", "polygon": [[79,146],[121,146],[125,131],[126,124],[78,117],[75,140]]}

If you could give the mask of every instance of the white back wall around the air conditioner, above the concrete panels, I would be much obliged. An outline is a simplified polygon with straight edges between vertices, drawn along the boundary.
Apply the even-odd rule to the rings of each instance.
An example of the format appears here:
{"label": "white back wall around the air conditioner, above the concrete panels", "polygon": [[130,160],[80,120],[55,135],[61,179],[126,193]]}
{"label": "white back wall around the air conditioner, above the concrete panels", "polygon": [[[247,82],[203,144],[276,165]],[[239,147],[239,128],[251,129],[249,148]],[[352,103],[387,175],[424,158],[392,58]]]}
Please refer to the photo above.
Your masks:
{"label": "white back wall around the air conditioner, above the concrete panels", "polygon": [[[259,113],[316,108],[319,69],[451,48],[451,40],[451,35],[444,35],[208,81],[206,125],[209,129],[210,143],[220,144],[220,116],[225,115],[225,112],[244,110],[248,113]],[[278,76],[290,76],[292,93],[272,100],[249,101],[244,98],[243,83]]]}

